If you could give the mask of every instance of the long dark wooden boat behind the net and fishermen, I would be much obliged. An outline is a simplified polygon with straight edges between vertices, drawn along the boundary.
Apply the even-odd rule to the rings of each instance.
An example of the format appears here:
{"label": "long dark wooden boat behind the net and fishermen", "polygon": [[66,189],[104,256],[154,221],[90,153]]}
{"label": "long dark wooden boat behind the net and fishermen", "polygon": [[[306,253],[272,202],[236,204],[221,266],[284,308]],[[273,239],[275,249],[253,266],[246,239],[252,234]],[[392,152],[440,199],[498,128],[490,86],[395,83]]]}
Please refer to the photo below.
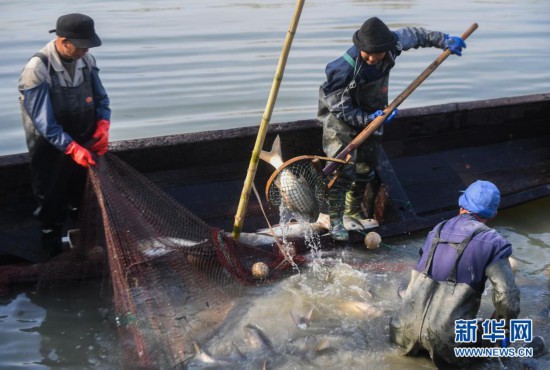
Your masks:
{"label": "long dark wooden boat behind the net and fishermen", "polygon": [[[457,212],[459,191],[493,181],[501,208],[550,195],[550,93],[400,110],[385,127],[377,201],[378,232],[396,236],[434,226]],[[113,142],[112,153],[168,192],[199,218],[231,231],[257,127]],[[265,147],[281,136],[284,159],[323,155],[316,120],[271,124]],[[260,163],[255,184],[273,172]],[[0,157],[0,258],[39,261],[28,155]],[[270,222],[278,210],[267,208]],[[251,194],[244,231],[265,228]]]}

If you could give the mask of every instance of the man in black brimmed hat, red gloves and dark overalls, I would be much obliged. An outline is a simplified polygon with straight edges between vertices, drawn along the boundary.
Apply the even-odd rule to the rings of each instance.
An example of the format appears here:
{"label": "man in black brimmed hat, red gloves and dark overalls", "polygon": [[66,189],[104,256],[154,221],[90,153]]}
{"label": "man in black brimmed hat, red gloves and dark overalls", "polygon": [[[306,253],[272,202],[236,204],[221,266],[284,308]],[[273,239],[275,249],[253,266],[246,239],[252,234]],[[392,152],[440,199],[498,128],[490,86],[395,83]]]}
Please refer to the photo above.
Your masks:
{"label": "man in black brimmed hat, red gloves and dark overalls", "polygon": [[111,117],[99,69],[88,53],[101,45],[93,19],[66,14],[51,32],[57,37],[27,62],[18,83],[38,202],[34,214],[49,257],[61,252],[62,227],[80,205],[86,167],[107,152]]}

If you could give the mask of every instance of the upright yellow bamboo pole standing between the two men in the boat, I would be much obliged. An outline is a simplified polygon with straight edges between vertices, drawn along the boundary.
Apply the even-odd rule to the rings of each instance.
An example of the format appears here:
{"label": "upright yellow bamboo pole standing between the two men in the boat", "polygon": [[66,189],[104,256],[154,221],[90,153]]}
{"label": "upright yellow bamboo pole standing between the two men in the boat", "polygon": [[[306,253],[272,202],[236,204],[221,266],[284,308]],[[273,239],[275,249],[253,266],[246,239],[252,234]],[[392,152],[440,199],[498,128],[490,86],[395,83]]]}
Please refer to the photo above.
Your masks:
{"label": "upright yellow bamboo pole standing between the two men in the boat", "polygon": [[250,190],[252,189],[254,177],[256,176],[256,170],[258,168],[258,162],[260,160],[260,152],[262,150],[262,147],[264,146],[265,136],[267,135],[267,127],[269,125],[269,122],[271,121],[271,114],[273,113],[273,107],[275,106],[275,101],[277,100],[279,86],[281,85],[281,81],[283,80],[283,74],[286,61],[288,59],[288,53],[290,52],[290,46],[292,45],[292,40],[294,39],[294,34],[296,33],[298,22],[300,20],[300,14],[302,13],[303,7],[304,0],[297,0],[294,14],[292,15],[292,20],[286,34],[285,42],[283,44],[283,49],[279,57],[277,71],[275,72],[273,84],[271,85],[271,91],[267,99],[262,122],[260,123],[260,129],[256,137],[256,143],[254,144],[254,149],[252,151],[252,157],[250,158],[250,163],[248,165],[248,171],[246,173],[246,179],[244,181],[239,206],[235,215],[235,223],[233,225],[232,233],[232,237],[235,240],[237,240],[241,234],[242,226],[244,223],[244,216],[246,214],[246,208],[248,206]]}

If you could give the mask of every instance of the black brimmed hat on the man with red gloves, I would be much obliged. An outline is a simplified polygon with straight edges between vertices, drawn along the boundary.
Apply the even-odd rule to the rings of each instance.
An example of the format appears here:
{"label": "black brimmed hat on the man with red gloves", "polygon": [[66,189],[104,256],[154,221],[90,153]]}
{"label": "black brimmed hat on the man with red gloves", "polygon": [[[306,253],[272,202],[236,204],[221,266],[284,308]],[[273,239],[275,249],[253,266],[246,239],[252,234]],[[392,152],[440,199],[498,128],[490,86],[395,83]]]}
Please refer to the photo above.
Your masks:
{"label": "black brimmed hat on the man with red gloves", "polygon": [[94,20],[87,15],[71,13],[57,19],[55,30],[57,36],[66,37],[74,46],[89,49],[101,45],[99,36],[95,33]]}

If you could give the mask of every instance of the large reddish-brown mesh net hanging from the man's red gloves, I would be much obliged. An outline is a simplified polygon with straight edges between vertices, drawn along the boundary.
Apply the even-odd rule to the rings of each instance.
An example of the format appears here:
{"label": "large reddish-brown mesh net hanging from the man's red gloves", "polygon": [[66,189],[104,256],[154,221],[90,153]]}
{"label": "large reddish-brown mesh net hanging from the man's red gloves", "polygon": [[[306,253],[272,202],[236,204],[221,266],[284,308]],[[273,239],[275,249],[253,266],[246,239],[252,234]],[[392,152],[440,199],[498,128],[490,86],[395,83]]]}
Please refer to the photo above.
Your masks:
{"label": "large reddish-brown mesh net hanging from the man's red gloves", "polygon": [[[131,368],[180,368],[230,317],[249,285],[292,272],[274,245],[235,242],[117,157],[89,171],[74,244],[104,250],[117,325]],[[269,274],[254,277],[263,262]]]}

